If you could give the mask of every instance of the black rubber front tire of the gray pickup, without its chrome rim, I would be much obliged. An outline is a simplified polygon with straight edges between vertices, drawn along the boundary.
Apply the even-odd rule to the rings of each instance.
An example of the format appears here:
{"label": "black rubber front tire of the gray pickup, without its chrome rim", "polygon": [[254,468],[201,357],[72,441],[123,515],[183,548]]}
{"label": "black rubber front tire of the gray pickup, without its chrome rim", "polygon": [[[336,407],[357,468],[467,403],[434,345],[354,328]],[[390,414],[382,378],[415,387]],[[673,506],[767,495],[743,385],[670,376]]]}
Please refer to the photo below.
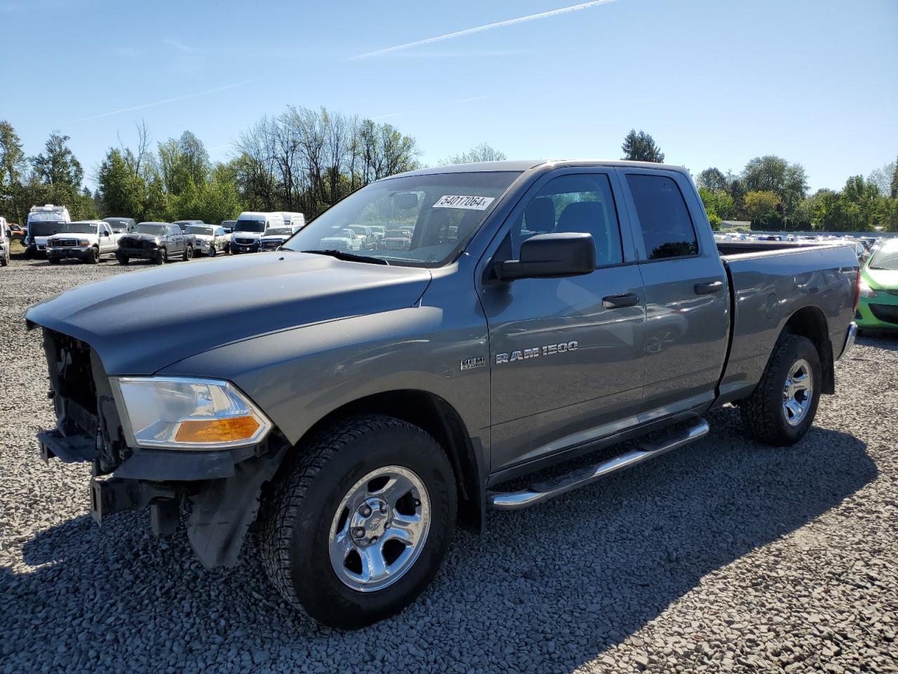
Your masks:
{"label": "black rubber front tire of the gray pickup, without its chrome rim", "polygon": [[[344,584],[331,565],[330,528],[353,486],[384,466],[418,476],[427,490],[430,524],[417,559],[398,580],[363,592]],[[453,469],[435,439],[392,417],[352,417],[301,448],[267,494],[260,518],[262,563],[291,605],[324,625],[357,629],[400,612],[433,580],[453,537],[455,513]]]}

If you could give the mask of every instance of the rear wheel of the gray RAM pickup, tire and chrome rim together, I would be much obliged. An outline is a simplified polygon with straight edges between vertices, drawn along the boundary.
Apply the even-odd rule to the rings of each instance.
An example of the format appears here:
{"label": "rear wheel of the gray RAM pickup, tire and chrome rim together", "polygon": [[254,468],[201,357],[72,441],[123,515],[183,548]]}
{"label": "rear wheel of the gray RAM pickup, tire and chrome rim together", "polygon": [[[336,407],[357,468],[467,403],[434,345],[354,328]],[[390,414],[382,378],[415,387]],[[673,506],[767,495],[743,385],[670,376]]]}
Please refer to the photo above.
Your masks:
{"label": "rear wheel of the gray RAM pickup, tire and chrome rim together", "polygon": [[823,370],[814,342],[795,334],[779,338],[758,386],[742,401],[742,423],[754,439],[785,447],[814,423]]}

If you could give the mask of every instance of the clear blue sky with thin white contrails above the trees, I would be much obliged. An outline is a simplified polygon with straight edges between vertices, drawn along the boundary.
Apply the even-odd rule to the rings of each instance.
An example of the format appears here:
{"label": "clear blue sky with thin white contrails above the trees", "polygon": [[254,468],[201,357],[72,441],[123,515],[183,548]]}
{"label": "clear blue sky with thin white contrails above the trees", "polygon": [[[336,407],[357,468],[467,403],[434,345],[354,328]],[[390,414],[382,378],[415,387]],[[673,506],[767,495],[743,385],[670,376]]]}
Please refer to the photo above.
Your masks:
{"label": "clear blue sky with thin white contrails above the trees", "polygon": [[693,173],[777,154],[816,189],[898,154],[896,0],[615,0],[504,23],[575,4],[0,0],[0,119],[29,155],[71,136],[89,176],[135,121],[225,159],[288,104],[390,122],[427,164],[482,141],[617,158],[635,127]]}

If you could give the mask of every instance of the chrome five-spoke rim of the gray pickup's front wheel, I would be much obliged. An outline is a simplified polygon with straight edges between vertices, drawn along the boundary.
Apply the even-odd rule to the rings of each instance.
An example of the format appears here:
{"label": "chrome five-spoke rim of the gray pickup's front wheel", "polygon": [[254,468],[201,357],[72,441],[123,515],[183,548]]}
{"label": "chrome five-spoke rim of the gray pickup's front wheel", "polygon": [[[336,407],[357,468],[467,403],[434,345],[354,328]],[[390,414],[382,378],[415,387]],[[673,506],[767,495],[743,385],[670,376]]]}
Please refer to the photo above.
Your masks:
{"label": "chrome five-spoke rim of the gray pickup's front wheel", "polygon": [[383,590],[418,560],[430,528],[430,499],[417,474],[384,466],[353,485],[330,525],[330,565],[360,592]]}

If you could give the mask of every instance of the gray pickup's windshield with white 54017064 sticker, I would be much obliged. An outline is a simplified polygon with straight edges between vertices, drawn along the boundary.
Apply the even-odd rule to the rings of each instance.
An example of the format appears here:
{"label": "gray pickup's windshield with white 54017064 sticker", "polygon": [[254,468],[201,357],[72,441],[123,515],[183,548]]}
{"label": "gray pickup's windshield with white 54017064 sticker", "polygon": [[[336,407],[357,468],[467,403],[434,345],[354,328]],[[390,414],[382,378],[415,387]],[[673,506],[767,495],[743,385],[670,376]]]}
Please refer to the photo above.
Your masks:
{"label": "gray pickup's windshield with white 54017064 sticker", "polygon": [[[401,247],[368,251],[369,257],[391,264],[438,267],[455,257],[483,222],[487,208],[520,175],[517,172],[436,173],[373,182],[339,201],[286,244],[283,250],[328,248],[322,239],[347,236],[352,227],[406,229]],[[376,242],[373,242],[376,243]]]}

